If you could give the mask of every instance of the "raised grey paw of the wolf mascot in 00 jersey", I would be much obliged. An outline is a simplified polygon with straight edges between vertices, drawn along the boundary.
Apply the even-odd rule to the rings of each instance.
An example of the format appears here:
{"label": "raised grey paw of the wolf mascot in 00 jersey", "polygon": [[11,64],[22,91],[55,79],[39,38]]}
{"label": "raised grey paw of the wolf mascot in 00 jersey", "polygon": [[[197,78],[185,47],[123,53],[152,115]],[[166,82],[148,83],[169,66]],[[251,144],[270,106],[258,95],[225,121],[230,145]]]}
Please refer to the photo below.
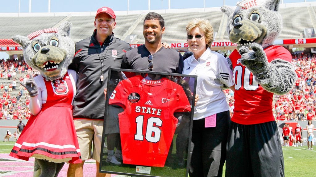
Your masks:
{"label": "raised grey paw of the wolf mascot in 00 jersey", "polygon": [[240,62],[253,73],[261,72],[261,69],[268,64],[267,56],[261,45],[257,43],[252,43],[250,48],[252,50],[249,50],[245,46],[240,47],[238,50],[241,55]]}

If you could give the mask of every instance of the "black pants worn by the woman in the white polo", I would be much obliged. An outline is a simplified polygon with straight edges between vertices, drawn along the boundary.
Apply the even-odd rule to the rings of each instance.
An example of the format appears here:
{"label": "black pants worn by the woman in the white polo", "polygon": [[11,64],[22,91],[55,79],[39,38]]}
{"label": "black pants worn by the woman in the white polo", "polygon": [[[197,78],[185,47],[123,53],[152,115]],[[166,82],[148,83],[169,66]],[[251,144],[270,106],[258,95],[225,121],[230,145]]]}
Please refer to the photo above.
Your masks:
{"label": "black pants worn by the woman in the white polo", "polygon": [[216,114],[216,127],[205,128],[205,118],[193,121],[190,177],[222,176],[229,122],[229,111]]}

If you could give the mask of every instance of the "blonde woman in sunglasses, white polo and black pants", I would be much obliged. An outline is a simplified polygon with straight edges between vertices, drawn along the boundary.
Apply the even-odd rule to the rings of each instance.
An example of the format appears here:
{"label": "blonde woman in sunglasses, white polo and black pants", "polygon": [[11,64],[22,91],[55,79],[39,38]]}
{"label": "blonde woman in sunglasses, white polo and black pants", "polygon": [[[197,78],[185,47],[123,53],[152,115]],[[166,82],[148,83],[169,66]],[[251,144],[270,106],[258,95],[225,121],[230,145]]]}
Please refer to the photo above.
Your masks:
{"label": "blonde woman in sunglasses, white polo and black pants", "polygon": [[222,176],[230,122],[223,84],[234,90],[233,72],[222,54],[211,51],[213,28],[206,19],[186,26],[193,55],[184,60],[183,74],[197,75],[199,100],[194,108],[190,177]]}

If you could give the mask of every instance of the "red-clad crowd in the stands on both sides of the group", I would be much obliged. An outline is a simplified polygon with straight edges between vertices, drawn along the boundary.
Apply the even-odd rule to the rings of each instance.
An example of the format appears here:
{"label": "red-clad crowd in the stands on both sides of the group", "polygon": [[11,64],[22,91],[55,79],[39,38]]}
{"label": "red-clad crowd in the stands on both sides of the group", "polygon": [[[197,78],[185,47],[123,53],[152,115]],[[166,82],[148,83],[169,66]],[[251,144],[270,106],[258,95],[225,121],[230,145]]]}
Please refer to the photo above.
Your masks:
{"label": "red-clad crowd in the stands on both sides of the group", "polygon": [[[316,54],[292,54],[292,64],[295,66],[298,79],[289,94],[275,95],[273,112],[276,121],[283,120],[316,120]],[[17,73],[20,76],[17,78]],[[0,119],[28,119],[30,102],[28,92],[19,82],[29,78],[30,74],[39,74],[27,66],[24,60],[0,60]],[[3,84],[3,80],[12,80]],[[12,91],[18,89],[17,94]],[[234,114],[234,93],[224,90]],[[22,99],[24,98],[24,99]]]}

